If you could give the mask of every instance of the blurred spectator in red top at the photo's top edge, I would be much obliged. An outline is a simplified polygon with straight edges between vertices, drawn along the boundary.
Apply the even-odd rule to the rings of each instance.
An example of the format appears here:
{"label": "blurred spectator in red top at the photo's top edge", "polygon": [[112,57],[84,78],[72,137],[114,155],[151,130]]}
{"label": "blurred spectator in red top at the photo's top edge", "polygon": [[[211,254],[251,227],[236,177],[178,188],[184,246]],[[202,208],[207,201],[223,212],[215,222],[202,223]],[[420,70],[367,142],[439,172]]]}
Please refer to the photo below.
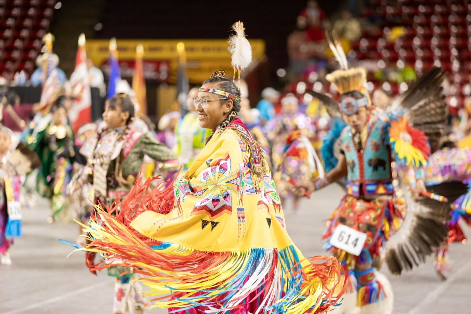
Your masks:
{"label": "blurred spectator in red top at the photo's top edge", "polygon": [[316,0],[308,0],[307,8],[298,16],[298,26],[306,29],[309,41],[324,40],[324,29],[328,28],[328,23],[324,10],[319,8]]}

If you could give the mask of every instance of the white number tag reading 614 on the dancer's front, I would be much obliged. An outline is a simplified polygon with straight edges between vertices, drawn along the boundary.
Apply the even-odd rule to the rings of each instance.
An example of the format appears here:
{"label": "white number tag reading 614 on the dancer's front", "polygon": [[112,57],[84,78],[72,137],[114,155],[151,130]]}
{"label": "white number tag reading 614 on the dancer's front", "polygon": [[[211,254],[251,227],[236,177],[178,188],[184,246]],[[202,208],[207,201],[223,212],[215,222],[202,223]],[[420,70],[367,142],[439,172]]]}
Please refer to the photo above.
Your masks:
{"label": "white number tag reading 614 on the dancer's front", "polygon": [[330,238],[334,247],[349,252],[355,256],[360,255],[366,241],[366,233],[360,232],[346,225],[338,225]]}

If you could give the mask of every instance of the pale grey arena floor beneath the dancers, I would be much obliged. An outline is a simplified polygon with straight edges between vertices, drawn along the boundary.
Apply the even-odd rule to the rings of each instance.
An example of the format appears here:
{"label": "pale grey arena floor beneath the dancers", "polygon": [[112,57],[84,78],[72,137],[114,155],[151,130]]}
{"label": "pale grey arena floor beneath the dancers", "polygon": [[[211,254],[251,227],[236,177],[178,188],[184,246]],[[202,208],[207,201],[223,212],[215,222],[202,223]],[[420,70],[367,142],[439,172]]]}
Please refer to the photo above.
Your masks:
{"label": "pale grey arena floor beneath the dancers", "polygon": [[[288,231],[306,256],[324,254],[320,235],[324,219],[337,205],[341,190],[329,186],[303,200],[299,213],[286,210]],[[69,258],[72,248],[58,242],[73,242],[74,223],[49,225],[47,202],[38,200],[34,209],[24,210],[24,236],[11,249],[13,266],[0,266],[0,313],[2,314],[84,314],[110,313],[114,280],[101,272],[91,275],[83,253]],[[470,228],[464,232],[471,236]],[[400,277],[383,268],[394,289],[395,314],[471,313],[471,243],[451,246],[453,272],[446,282],[439,281],[431,258],[426,265]],[[163,314],[153,309],[148,313]]]}

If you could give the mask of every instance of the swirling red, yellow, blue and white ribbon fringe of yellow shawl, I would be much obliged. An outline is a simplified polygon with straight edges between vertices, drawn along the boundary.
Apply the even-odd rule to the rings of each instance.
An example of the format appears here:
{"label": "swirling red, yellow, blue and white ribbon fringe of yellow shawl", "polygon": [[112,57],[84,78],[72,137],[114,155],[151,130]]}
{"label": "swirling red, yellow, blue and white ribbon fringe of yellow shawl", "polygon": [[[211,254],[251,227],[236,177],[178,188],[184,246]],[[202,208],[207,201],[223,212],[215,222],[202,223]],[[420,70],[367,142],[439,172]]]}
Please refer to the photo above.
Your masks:
{"label": "swirling red, yellow, blue and white ribbon fringe of yellow shawl", "polygon": [[[133,217],[145,210],[166,213],[173,208],[172,184],[146,193],[151,181],[136,184],[112,208],[97,208],[89,225],[83,225],[90,243],[78,249],[119,258],[121,266],[141,274],[136,280],[150,289],[146,295],[153,297],[151,308],[186,311],[201,306],[207,313],[224,313],[256,302],[254,314],[301,314],[325,313],[339,305],[346,285],[333,257],[303,258],[294,245],[205,252],[138,233],[129,227]],[[101,262],[95,269],[116,265]]]}

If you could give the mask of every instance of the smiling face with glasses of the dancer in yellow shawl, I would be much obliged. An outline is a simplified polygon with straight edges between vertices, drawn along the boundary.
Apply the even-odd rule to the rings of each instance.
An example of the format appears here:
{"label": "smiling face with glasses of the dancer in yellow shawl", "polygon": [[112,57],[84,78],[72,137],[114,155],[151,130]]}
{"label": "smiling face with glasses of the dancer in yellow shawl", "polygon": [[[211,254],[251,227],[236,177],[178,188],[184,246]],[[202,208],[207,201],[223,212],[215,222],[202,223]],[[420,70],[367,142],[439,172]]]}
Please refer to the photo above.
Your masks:
{"label": "smiling face with glasses of the dancer in yellow shawl", "polygon": [[[217,83],[203,84],[202,88],[208,89],[219,89]],[[207,92],[198,92],[198,99],[207,99],[208,102],[205,108],[198,104],[196,107],[196,113],[198,113],[198,120],[200,121],[200,127],[205,129],[215,129],[219,124],[226,119],[227,114],[232,110],[232,100],[212,100],[223,98],[222,96],[211,94]]]}

